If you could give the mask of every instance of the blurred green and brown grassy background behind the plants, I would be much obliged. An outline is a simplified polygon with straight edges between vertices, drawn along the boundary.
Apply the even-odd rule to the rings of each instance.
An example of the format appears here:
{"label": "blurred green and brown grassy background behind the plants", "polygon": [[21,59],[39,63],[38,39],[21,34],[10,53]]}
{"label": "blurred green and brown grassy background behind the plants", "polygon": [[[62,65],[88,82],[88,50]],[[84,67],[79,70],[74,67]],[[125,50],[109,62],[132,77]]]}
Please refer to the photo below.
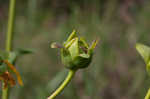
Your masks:
{"label": "blurred green and brown grassy background behind the plants", "polygon": [[[150,87],[135,43],[150,45],[149,0],[16,0],[14,50],[34,48],[16,66],[24,86],[10,99],[46,99],[67,70],[53,41],[73,29],[88,42],[100,38],[91,65],[79,70],[56,99],[144,99]],[[0,0],[0,48],[5,47],[9,0]],[[1,91],[1,90],[0,90]]]}

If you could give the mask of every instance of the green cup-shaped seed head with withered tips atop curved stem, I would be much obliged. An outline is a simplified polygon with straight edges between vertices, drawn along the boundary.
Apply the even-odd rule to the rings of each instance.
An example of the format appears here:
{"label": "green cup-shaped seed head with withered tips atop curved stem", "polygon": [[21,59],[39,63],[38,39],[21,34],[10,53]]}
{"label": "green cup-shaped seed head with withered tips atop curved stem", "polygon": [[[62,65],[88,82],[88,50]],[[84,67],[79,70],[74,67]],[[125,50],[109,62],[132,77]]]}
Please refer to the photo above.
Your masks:
{"label": "green cup-shaped seed head with withered tips atop curved stem", "polygon": [[66,68],[76,70],[79,68],[88,67],[92,60],[93,50],[97,45],[98,40],[95,40],[91,46],[82,38],[78,37],[73,31],[64,42],[63,46],[57,43],[52,43],[52,48],[61,48],[61,60]]}

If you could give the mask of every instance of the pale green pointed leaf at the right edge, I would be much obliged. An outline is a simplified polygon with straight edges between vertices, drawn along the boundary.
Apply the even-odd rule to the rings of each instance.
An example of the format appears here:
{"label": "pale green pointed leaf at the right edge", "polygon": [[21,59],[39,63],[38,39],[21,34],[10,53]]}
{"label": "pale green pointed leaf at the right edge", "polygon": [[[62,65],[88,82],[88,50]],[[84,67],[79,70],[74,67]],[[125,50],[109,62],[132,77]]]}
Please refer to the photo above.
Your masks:
{"label": "pale green pointed leaf at the right edge", "polygon": [[150,47],[144,44],[137,43],[136,49],[144,59],[145,63],[148,64],[148,62],[150,61]]}

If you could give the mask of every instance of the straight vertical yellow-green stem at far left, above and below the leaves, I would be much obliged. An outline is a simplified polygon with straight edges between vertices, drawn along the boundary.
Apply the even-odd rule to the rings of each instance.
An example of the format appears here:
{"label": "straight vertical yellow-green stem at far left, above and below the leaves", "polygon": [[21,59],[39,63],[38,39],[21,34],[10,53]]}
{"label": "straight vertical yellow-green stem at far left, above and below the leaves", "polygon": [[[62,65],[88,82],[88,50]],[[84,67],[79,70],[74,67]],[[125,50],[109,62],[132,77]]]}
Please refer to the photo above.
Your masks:
{"label": "straight vertical yellow-green stem at far left, above and below the leaves", "polygon": [[[7,34],[6,34],[6,51],[11,51],[12,48],[12,32],[14,29],[14,19],[15,19],[15,5],[16,0],[10,0],[9,3],[9,18],[8,18],[8,27],[7,27]],[[2,99],[8,99],[8,87],[2,88]]]}

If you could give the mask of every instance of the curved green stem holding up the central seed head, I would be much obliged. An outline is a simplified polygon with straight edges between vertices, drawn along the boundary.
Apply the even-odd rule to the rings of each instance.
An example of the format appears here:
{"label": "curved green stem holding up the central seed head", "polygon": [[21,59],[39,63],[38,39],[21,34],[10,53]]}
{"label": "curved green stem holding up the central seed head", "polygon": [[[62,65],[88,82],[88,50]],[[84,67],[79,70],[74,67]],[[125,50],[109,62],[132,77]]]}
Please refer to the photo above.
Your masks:
{"label": "curved green stem holding up the central seed head", "polygon": [[66,79],[64,80],[64,82],[47,99],[54,99],[58,94],[60,94],[63,91],[63,89],[68,85],[68,83],[71,81],[71,79],[73,78],[75,72],[76,72],[75,70],[70,70],[67,77],[66,77]]}

